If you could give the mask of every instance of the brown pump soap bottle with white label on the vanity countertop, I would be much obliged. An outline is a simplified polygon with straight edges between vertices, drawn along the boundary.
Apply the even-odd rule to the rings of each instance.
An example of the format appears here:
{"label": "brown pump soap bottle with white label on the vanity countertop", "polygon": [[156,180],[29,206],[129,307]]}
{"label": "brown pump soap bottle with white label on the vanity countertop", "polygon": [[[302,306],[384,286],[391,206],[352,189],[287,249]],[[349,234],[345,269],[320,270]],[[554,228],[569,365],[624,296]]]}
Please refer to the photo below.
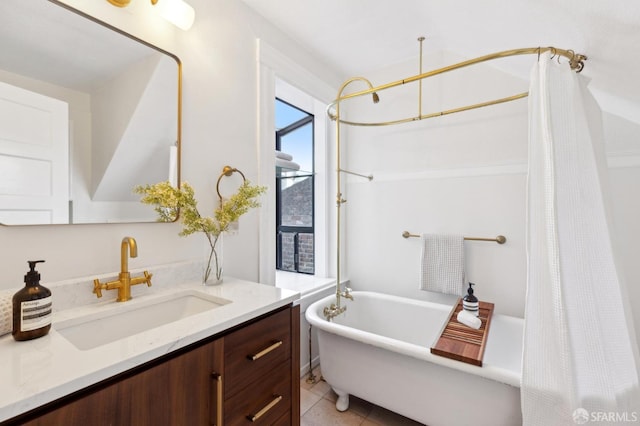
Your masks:
{"label": "brown pump soap bottle with white label on the vanity countertop", "polygon": [[13,338],[31,340],[42,337],[51,328],[51,291],[40,285],[36,263],[29,260],[29,272],[24,276],[26,286],[13,296]]}

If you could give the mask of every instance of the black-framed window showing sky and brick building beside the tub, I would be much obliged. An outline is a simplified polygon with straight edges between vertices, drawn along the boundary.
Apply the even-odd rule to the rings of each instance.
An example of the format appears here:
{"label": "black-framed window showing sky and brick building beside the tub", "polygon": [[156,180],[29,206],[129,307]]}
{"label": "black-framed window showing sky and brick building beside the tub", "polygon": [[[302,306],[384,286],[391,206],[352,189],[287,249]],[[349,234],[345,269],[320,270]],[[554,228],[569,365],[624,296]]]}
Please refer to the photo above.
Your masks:
{"label": "black-framed window showing sky and brick building beside the tub", "polygon": [[276,98],[276,268],[313,274],[314,116]]}

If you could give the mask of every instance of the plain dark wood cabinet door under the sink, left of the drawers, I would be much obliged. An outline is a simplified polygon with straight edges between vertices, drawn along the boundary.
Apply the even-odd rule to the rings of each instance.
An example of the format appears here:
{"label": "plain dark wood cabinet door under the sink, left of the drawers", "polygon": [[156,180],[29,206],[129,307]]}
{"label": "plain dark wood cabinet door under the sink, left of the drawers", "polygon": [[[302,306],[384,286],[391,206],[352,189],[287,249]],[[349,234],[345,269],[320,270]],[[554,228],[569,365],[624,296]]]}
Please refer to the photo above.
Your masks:
{"label": "plain dark wood cabinet door under the sink, left of the drawers", "polygon": [[[142,371],[85,390],[26,425],[198,425],[215,416],[211,398],[218,339]],[[215,396],[215,395],[214,395]],[[56,404],[58,405],[58,404]]]}

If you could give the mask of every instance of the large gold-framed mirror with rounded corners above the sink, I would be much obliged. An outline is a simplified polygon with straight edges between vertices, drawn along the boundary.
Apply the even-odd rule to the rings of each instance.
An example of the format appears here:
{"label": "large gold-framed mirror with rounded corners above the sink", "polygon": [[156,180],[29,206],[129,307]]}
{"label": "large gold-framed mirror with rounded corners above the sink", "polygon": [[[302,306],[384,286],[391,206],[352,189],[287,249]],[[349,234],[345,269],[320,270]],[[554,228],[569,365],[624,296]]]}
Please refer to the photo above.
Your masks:
{"label": "large gold-framed mirror with rounded corners above the sink", "polygon": [[177,56],[56,0],[0,1],[0,223],[153,222],[180,183]]}

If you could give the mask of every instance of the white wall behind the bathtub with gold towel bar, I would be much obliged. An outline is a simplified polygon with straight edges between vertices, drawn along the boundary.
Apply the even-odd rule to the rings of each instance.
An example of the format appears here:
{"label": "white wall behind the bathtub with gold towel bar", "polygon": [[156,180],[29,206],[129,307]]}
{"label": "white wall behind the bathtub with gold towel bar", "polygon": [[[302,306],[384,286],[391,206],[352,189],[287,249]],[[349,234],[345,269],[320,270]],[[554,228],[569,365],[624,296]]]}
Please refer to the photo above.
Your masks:
{"label": "white wall behind the bathtub with gold towel bar", "polygon": [[[428,68],[466,58],[443,53]],[[532,59],[535,60],[535,59]],[[437,62],[434,64],[434,62]],[[371,75],[374,85],[416,74],[417,59]],[[528,90],[528,83],[488,65],[434,77],[424,86],[423,114]],[[437,82],[437,84],[436,84]],[[440,84],[441,83],[441,84]],[[380,103],[345,107],[348,118],[390,120],[417,114],[417,86],[381,92]],[[614,238],[640,331],[637,250],[640,240],[638,126],[604,115],[610,163]],[[453,300],[418,290],[419,239],[404,230],[495,237],[507,243],[465,243],[468,279],[496,311],[524,314],[526,286],[527,100],[392,127],[346,128],[345,167],[373,173],[346,184],[347,275],[354,289],[419,299]]]}

